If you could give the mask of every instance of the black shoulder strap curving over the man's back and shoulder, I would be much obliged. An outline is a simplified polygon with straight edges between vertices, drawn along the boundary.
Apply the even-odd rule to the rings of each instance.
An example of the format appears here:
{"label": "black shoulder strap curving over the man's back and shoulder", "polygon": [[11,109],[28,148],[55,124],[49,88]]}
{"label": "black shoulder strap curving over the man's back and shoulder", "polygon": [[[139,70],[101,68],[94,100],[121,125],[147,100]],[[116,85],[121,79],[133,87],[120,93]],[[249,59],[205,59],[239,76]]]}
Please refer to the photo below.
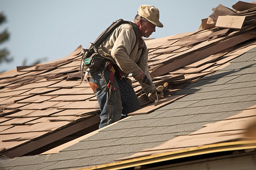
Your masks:
{"label": "black shoulder strap curving over the man's back and shoulder", "polygon": [[[119,27],[119,25],[121,25],[121,24],[126,24],[126,23],[129,23],[133,27],[133,31],[135,32],[136,42],[133,47],[133,50],[134,50],[134,48],[138,42],[138,39],[139,39],[139,31],[138,31],[137,25],[133,22],[126,21],[123,19],[118,19],[115,22],[113,22],[108,28],[105,29],[105,31],[103,31],[101,33],[101,35],[99,35],[97,37],[97,39],[93,42],[95,48],[97,49],[98,46],[100,46],[106,40],[106,38],[114,31],[115,28]],[[131,51],[133,51],[133,50],[131,50]]]}

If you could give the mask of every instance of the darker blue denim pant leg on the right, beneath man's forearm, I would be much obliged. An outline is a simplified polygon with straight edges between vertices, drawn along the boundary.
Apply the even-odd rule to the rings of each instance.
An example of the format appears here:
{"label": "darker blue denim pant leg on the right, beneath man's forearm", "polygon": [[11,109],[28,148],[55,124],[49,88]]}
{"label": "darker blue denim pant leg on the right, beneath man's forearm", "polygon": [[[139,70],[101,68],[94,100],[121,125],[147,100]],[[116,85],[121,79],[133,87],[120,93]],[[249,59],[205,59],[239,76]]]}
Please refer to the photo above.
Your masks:
{"label": "darker blue denim pant leg on the right, beneath man's forearm", "polygon": [[121,118],[125,118],[128,113],[141,109],[141,104],[139,104],[138,97],[127,79],[123,78],[118,80],[118,86],[122,97]]}

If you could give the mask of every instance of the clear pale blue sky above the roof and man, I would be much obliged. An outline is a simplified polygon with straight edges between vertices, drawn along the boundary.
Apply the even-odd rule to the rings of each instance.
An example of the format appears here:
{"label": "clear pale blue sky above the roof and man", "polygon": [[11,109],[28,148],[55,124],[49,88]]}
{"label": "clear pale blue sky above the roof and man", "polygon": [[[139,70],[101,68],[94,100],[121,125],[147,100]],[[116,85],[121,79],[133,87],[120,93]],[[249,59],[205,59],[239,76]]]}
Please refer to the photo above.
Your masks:
{"label": "clear pale blue sky above the roof and man", "polygon": [[[160,11],[163,28],[156,28],[151,38],[196,31],[201,19],[212,14],[220,3],[232,8],[238,0],[0,0],[0,12],[7,18],[0,25],[7,28],[10,40],[0,45],[9,49],[14,61],[0,64],[0,71],[27,65],[38,58],[44,62],[63,58],[104,31],[119,18],[133,20],[138,7],[154,5]],[[245,1],[250,2],[250,1]]]}

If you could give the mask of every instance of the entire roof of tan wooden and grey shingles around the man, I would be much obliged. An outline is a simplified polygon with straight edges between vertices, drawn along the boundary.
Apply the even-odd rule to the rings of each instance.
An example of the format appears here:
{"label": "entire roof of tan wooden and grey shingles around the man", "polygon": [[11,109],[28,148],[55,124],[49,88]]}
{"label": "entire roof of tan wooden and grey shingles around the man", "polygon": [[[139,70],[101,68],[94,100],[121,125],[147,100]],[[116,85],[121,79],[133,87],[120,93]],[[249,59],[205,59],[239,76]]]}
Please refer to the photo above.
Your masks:
{"label": "entire roof of tan wooden and grey shingles around the man", "polygon": [[[241,28],[214,21],[220,8],[228,11],[228,17],[221,19],[246,16]],[[38,148],[34,143],[42,147],[48,144],[43,142],[46,139],[53,142],[65,133],[97,125],[97,101],[88,84],[79,81],[82,47],[59,61],[1,74],[0,146],[3,154],[13,158],[4,160],[1,167],[100,168],[100,164],[113,167],[126,163],[135,166],[151,161],[152,154],[159,161],[163,154],[168,159],[178,152],[184,157],[192,150],[202,154],[200,147],[210,147],[211,152],[220,152],[216,148],[226,146],[233,146],[230,150],[255,148],[255,142],[247,147],[240,147],[244,143],[239,143],[241,139],[252,139],[244,132],[254,123],[250,120],[256,114],[256,33],[255,19],[251,17],[255,16],[255,8],[232,10],[230,14],[230,9],[218,6],[212,15],[209,20],[213,23],[206,23],[210,29],[205,28],[202,20],[198,31],[146,40],[154,83],[170,83],[156,107],[148,103],[138,82],[133,80],[142,109],[63,145],[64,149],[56,154],[13,158],[24,155],[25,147]],[[238,18],[234,23],[241,23]],[[140,159],[137,162],[134,158]]]}

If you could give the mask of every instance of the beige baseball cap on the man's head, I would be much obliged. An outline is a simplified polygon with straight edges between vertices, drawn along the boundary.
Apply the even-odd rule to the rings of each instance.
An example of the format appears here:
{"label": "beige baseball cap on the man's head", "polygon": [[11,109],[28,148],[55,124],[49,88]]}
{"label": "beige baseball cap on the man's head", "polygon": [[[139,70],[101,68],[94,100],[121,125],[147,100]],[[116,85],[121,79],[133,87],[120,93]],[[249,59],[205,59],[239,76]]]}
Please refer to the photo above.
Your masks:
{"label": "beige baseball cap on the man's head", "polygon": [[139,16],[146,18],[149,22],[157,27],[163,27],[163,24],[159,21],[159,10],[152,5],[142,5],[138,10]]}

